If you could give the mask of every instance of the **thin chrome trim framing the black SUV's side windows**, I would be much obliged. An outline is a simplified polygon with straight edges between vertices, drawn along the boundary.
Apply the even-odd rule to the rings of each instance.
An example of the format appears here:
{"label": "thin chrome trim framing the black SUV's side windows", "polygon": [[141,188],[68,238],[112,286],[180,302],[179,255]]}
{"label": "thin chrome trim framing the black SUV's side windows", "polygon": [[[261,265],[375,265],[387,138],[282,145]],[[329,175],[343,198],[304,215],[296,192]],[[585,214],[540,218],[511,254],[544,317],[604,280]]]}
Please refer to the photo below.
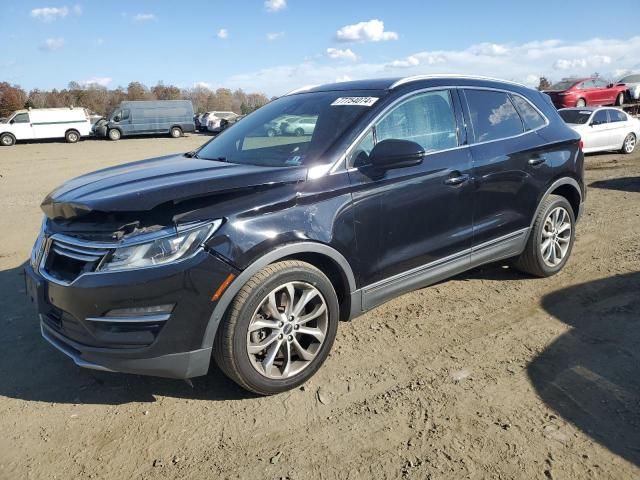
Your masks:
{"label": "thin chrome trim framing the black SUV's side windows", "polygon": [[[473,78],[477,78],[477,77],[473,77]],[[505,82],[503,82],[503,83],[505,83]],[[516,84],[516,85],[519,85],[519,84]],[[487,143],[500,142],[500,141],[503,141],[503,140],[510,140],[510,139],[513,139],[513,138],[518,138],[518,137],[521,137],[523,135],[528,135],[530,133],[537,132],[538,130],[546,128],[551,124],[551,122],[549,121],[547,116],[536,105],[534,105],[527,97],[525,97],[524,95],[521,95],[518,92],[514,92],[514,91],[511,91],[511,90],[506,90],[506,89],[501,89],[501,88],[494,88],[494,87],[479,87],[479,86],[469,86],[468,87],[468,86],[461,86],[461,85],[440,85],[440,86],[437,86],[437,87],[427,87],[427,88],[421,88],[421,89],[418,89],[418,90],[412,90],[411,92],[407,92],[406,94],[402,95],[401,97],[398,97],[391,104],[387,105],[380,113],[378,113],[367,124],[367,126],[358,134],[356,139],[351,143],[351,145],[349,145],[349,147],[345,150],[345,152],[342,155],[340,155],[338,160],[336,160],[331,165],[331,167],[329,168],[329,175],[332,175],[332,174],[335,174],[335,173],[340,173],[339,169],[340,169],[341,165],[344,165],[344,171],[346,171],[346,172],[353,172],[353,171],[358,170],[357,167],[353,167],[353,166],[347,165],[347,163],[346,163],[347,157],[351,154],[351,152],[356,147],[356,145],[358,145],[358,143],[360,143],[360,141],[365,137],[365,135],[371,129],[371,127],[373,127],[391,109],[393,109],[396,106],[398,106],[401,102],[403,102],[407,98],[409,98],[411,96],[414,96],[414,95],[419,95],[421,93],[434,91],[434,90],[437,91],[437,90],[465,90],[465,89],[467,89],[467,90],[488,90],[488,91],[506,93],[507,95],[517,95],[517,96],[523,98],[540,115],[542,115],[542,118],[544,118],[545,124],[541,125],[541,126],[539,126],[537,128],[531,129],[531,130],[524,130],[525,126],[524,126],[524,123],[523,123],[522,128],[523,128],[524,131],[522,133],[517,134],[517,135],[512,135],[512,136],[503,137],[503,138],[497,138],[497,139],[494,139],[494,140],[486,140],[484,142],[469,142],[469,141],[467,141],[467,143],[464,144],[464,145],[458,145],[457,147],[452,147],[452,148],[448,148],[448,149],[444,149],[444,150],[437,150],[435,152],[425,153],[425,155],[424,155],[425,157],[427,157],[429,155],[435,155],[435,154],[438,154],[438,153],[450,152],[452,150],[460,150],[460,149],[463,149],[463,148],[469,148],[469,147],[476,146],[476,145],[484,145],[484,144],[487,144]],[[462,96],[462,97],[464,97],[464,96]],[[466,102],[466,97],[461,98],[460,100]],[[516,108],[516,107],[514,106],[514,108]],[[517,111],[518,110],[516,109],[516,112]],[[518,112],[518,116],[520,116],[520,112]],[[466,124],[465,124],[465,127],[468,128],[468,126]],[[467,134],[468,133],[469,132],[467,132]],[[468,137],[469,137],[469,135],[467,135],[467,138]]]}

